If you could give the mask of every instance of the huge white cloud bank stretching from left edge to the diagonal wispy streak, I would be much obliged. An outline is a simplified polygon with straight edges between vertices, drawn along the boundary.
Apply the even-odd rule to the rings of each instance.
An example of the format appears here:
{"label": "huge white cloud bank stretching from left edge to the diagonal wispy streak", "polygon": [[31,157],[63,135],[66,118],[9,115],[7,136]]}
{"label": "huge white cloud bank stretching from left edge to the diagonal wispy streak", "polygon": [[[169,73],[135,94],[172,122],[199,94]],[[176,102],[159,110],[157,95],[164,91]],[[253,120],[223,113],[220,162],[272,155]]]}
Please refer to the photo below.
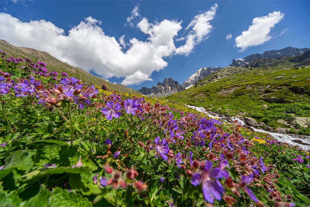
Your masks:
{"label": "huge white cloud bank stretching from left edge to the diagonal wispy streak", "polygon": [[[125,35],[119,38],[108,36],[100,27],[101,21],[91,16],[66,34],[64,29],[49,21],[22,22],[6,13],[0,13],[0,36],[15,46],[46,51],[63,62],[86,71],[92,70],[105,79],[125,78],[122,84],[132,85],[152,80],[150,76],[153,71],[168,65],[165,57],[188,55],[194,45],[206,39],[212,29],[208,21],[214,18],[214,14],[210,14],[214,7],[209,13],[194,18],[187,27],[193,30],[186,36],[186,43],[179,48],[175,47],[174,40],[182,29],[182,21],[165,19],[149,22],[145,17],[136,24],[141,32],[148,35],[145,41],[131,38],[126,43]],[[135,7],[132,14],[137,15],[137,9]],[[123,52],[125,47],[127,50]]]}

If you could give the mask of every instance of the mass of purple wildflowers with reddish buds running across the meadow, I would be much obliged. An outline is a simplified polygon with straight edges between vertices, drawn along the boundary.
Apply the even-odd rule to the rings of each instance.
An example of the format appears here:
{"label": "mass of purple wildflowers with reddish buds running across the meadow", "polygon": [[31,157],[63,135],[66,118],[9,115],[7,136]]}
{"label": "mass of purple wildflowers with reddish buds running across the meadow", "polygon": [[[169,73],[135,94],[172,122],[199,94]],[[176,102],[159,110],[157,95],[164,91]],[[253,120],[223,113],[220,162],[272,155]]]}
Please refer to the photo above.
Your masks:
{"label": "mass of purple wildflowers with reddish buds running across the meadow", "polygon": [[[30,64],[30,60],[25,61]],[[44,67],[46,64],[39,61],[36,65],[32,65],[32,68],[42,73],[44,73],[42,70]],[[48,75],[55,77],[58,74],[51,72]],[[185,114],[184,112],[179,113],[181,117],[176,119],[171,113],[175,110],[168,106],[162,106],[160,103],[152,104],[145,101],[144,98],[135,96],[126,97],[125,100],[115,92],[110,95],[102,94],[100,103],[91,103],[91,99],[97,97],[98,94],[98,90],[94,86],[83,86],[78,79],[67,78],[67,74],[64,73],[61,75],[63,77],[61,81],[57,82],[58,84],[47,85],[42,84],[35,77],[13,81],[10,79],[10,74],[0,73],[0,92],[2,94],[9,93],[12,87],[15,89],[16,97],[35,95],[39,98],[38,104],[42,104],[50,112],[53,112],[57,107],[74,103],[79,109],[83,109],[86,105],[86,116],[91,113],[87,107],[93,107],[91,109],[101,110],[101,115],[104,115],[108,121],[120,117],[136,118],[139,123],[144,124],[144,134],[160,134],[160,137],[149,137],[147,141],[144,139],[147,136],[140,139],[138,142],[142,147],[140,150],[145,150],[147,156],[155,154],[158,161],[175,167],[176,179],[180,179],[179,174],[182,173],[190,178],[193,186],[201,186],[202,195],[210,204],[223,199],[228,206],[232,206],[236,199],[229,196],[228,193],[232,192],[235,197],[241,197],[241,191],[244,191],[257,206],[262,206],[251,190],[253,186],[258,186],[263,187],[270,194],[272,200],[278,202],[279,206],[286,205],[282,202],[281,195],[274,185],[279,175],[276,171],[272,172],[272,165],[265,166],[262,157],[258,159],[250,154],[251,143],[242,137],[239,130],[240,125],[237,122],[236,126],[227,133],[223,130],[223,123],[216,119],[207,119],[207,117],[191,113]],[[140,126],[137,126],[137,129],[140,129]],[[151,130],[153,130],[152,133],[148,133]],[[123,133],[125,136],[126,133]],[[114,134],[117,136],[117,130],[113,136]],[[104,142],[104,145],[108,145],[107,156],[114,157],[113,161],[117,163],[119,160],[116,159],[120,156],[121,149],[119,148],[112,155],[109,151],[112,145],[109,138]],[[130,139],[128,138],[128,140]],[[114,143],[115,141],[114,139],[113,144],[117,145]],[[135,143],[135,146],[138,143]],[[123,148],[122,150],[126,150],[128,153],[126,157],[131,153],[127,149]],[[298,158],[300,157],[298,156]],[[56,167],[53,164],[44,166],[47,168]],[[82,166],[80,156],[77,164],[72,168]],[[120,166],[118,167],[121,169]],[[126,166],[123,169],[127,169]],[[133,167],[123,173],[105,165],[104,171],[105,177],[101,176],[98,179],[99,174],[93,177],[94,184],[100,188],[109,186],[119,189],[126,188],[128,185],[134,186],[138,191],[147,188],[143,181],[135,180],[139,173]],[[231,172],[234,173],[233,176]],[[165,179],[161,178],[159,181],[164,182]],[[287,205],[291,206],[293,203]]]}

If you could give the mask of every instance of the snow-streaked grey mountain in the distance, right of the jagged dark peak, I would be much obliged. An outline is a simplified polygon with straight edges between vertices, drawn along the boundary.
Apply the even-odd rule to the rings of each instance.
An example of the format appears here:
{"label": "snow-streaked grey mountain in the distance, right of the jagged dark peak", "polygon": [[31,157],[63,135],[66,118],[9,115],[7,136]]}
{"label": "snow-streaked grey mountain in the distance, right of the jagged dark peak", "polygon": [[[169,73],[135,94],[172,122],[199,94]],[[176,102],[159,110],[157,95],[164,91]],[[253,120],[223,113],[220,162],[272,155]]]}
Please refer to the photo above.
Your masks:
{"label": "snow-streaked grey mountain in the distance, right of the jagged dark peak", "polygon": [[198,81],[201,79],[206,78],[209,76],[211,73],[221,69],[220,67],[208,67],[208,68],[201,68],[197,70],[193,75],[191,75],[184,83],[181,85],[183,88],[187,89],[190,88],[191,86],[195,85]]}

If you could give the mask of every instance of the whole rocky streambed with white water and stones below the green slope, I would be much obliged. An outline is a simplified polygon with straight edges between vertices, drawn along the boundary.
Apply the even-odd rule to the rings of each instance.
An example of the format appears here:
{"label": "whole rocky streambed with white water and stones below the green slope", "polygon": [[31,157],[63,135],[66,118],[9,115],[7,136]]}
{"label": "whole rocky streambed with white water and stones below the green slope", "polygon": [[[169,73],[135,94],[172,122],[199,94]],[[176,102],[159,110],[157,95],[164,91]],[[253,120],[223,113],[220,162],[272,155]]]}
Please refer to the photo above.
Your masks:
{"label": "whole rocky streambed with white water and stones below the green slope", "polygon": [[[241,122],[241,124],[244,127],[249,128],[250,130],[253,130],[255,132],[262,132],[262,133],[268,133],[270,134],[269,136],[272,136],[273,138],[281,141],[281,142],[286,142],[290,145],[296,145],[299,146],[300,148],[302,148],[303,150],[310,150],[310,136],[306,136],[306,135],[299,135],[299,134],[287,134],[286,131],[278,131],[278,133],[274,133],[273,132],[273,128],[266,125],[264,127],[264,129],[260,128],[260,123],[253,123],[253,120],[251,118],[237,118],[237,117],[227,117],[224,115],[220,115],[211,111],[206,110],[203,107],[197,107],[197,106],[190,106],[190,105],[186,105],[192,109],[195,109],[199,112],[202,112],[204,114],[206,114],[207,116],[211,117],[211,118],[216,118],[216,119],[220,119],[221,121],[224,122],[228,122],[228,123],[233,123],[234,120],[238,120],[239,122]],[[254,127],[256,126],[256,127]]]}

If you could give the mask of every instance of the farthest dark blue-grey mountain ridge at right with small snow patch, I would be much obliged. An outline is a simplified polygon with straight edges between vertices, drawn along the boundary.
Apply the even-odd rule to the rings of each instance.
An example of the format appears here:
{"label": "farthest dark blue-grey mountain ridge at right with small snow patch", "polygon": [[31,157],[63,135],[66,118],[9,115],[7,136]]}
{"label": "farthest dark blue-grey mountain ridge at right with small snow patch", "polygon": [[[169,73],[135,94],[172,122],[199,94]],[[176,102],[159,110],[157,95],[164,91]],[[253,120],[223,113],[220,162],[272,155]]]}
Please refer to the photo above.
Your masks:
{"label": "farthest dark blue-grey mountain ridge at right with small snow patch", "polygon": [[237,59],[232,60],[232,64],[229,66],[236,66],[236,67],[245,67],[247,63],[250,61],[256,59],[256,58],[277,58],[277,57],[292,57],[292,56],[298,56],[300,54],[303,54],[304,52],[308,51],[309,48],[296,48],[296,47],[286,47],[281,50],[270,50],[266,51],[263,54],[252,54],[249,56],[246,56],[243,59]]}

